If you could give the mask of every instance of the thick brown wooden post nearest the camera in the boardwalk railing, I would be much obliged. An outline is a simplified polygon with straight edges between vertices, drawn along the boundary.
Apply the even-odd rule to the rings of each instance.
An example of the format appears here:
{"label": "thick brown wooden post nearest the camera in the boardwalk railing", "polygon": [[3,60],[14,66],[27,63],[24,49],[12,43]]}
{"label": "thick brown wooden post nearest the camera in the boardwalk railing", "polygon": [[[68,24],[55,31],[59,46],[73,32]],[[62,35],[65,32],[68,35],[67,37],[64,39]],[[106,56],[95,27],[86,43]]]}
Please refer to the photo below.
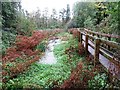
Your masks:
{"label": "thick brown wooden post nearest the camera in the boardwalk railing", "polygon": [[100,39],[95,40],[94,66],[99,62]]}

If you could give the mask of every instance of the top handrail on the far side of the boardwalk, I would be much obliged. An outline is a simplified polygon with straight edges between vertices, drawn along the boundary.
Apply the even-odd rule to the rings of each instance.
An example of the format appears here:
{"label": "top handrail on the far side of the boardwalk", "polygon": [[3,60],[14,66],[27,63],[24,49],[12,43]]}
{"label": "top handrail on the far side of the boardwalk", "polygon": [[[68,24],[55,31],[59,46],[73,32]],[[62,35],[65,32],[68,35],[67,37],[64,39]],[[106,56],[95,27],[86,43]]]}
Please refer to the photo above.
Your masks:
{"label": "top handrail on the far side of the boardwalk", "polygon": [[94,32],[94,31],[88,30],[86,28],[84,28],[84,30],[86,32],[88,32],[88,33],[91,33],[91,34],[100,35],[100,36],[103,36],[103,37],[110,37],[110,38],[118,38],[118,39],[120,39],[119,35],[112,35],[112,34],[104,34],[104,33],[100,33],[100,32]]}

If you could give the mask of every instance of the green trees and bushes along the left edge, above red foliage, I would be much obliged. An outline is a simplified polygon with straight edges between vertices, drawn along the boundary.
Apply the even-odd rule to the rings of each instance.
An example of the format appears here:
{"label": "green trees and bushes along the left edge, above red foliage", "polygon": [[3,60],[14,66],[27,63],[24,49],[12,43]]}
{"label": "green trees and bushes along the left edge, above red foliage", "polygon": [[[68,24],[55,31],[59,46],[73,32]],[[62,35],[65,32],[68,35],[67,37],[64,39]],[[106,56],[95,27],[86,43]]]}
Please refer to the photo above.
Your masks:
{"label": "green trees and bushes along the left edge, above red foliage", "polygon": [[35,24],[32,19],[24,15],[20,2],[2,2],[1,5],[2,50],[0,53],[4,55],[5,50],[15,43],[16,35],[31,35],[32,30],[35,29]]}

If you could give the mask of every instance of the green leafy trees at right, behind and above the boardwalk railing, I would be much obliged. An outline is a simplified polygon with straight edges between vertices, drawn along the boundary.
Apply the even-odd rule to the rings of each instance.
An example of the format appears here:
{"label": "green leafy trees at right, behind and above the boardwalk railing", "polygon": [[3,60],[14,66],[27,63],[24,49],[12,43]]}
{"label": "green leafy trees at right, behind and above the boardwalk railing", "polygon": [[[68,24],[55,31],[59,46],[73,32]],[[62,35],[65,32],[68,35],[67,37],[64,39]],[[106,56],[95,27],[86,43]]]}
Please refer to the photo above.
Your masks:
{"label": "green leafy trees at right, behind and above the boardwalk railing", "polygon": [[[120,35],[119,8],[120,2],[76,2],[71,22],[78,28]],[[118,39],[115,41],[120,42]]]}

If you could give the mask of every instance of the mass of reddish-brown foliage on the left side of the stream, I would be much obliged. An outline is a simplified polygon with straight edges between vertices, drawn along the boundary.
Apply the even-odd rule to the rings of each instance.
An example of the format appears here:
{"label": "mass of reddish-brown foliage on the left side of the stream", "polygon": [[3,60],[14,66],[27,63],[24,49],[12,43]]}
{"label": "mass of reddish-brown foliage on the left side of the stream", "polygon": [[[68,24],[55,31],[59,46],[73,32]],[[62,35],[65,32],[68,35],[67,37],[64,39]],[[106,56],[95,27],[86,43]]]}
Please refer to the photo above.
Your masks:
{"label": "mass of reddish-brown foliage on the left side of the stream", "polygon": [[[32,33],[32,36],[17,36],[16,37],[16,46],[10,47],[6,50],[5,56],[2,57],[3,66],[6,67],[6,62],[13,62],[16,58],[24,58],[23,55],[26,55],[26,62],[18,63],[15,65],[15,67],[10,67],[9,76],[12,77],[16,74],[19,74],[23,72],[29,65],[31,65],[33,62],[39,60],[38,53],[39,51],[34,51],[33,48],[38,45],[45,37],[47,37],[47,32],[44,33],[43,31],[34,31]],[[27,57],[34,56],[33,60],[28,60]],[[25,59],[25,58],[24,58]],[[4,75],[8,74],[8,71],[3,72]],[[3,81],[6,81],[5,78]]]}

